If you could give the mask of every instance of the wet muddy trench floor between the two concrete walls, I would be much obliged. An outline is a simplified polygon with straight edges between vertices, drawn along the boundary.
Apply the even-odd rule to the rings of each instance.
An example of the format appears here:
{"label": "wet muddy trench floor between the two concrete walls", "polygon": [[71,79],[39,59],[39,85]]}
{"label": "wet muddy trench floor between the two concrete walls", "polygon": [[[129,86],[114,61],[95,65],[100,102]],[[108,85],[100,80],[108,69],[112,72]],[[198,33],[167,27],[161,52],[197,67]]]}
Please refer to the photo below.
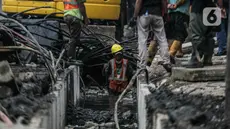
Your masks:
{"label": "wet muddy trench floor between the two concrete walls", "polygon": [[[68,105],[67,121],[75,129],[100,127],[116,129],[114,106],[118,97],[110,96],[106,89],[87,88],[78,107]],[[131,91],[119,104],[118,116],[122,129],[137,128],[137,111],[134,93]]]}

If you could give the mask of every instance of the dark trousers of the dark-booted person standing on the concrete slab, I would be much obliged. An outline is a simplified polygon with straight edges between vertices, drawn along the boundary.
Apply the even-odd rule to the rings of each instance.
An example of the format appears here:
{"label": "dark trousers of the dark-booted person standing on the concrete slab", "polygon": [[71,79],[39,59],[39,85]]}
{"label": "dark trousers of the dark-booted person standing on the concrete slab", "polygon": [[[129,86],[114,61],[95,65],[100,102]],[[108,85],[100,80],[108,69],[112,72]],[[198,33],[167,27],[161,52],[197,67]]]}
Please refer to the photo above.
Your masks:
{"label": "dark trousers of the dark-booted person standing on the concrete slab", "polygon": [[192,36],[192,57],[189,63],[197,62],[195,51],[198,50],[200,57],[205,60],[211,60],[214,50],[213,33],[211,28],[205,26],[202,21],[202,14],[191,13],[189,27]]}

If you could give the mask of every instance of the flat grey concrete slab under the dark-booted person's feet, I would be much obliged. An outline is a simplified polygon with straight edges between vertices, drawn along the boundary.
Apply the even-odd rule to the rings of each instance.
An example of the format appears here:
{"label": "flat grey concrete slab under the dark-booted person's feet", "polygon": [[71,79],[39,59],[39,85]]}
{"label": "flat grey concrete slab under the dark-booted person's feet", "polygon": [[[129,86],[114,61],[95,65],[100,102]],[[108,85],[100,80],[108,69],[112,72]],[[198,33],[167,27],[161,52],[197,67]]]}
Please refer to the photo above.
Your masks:
{"label": "flat grey concrete slab under the dark-booted person's feet", "polygon": [[221,81],[225,78],[225,66],[210,66],[204,68],[174,67],[172,69],[173,80],[183,81]]}

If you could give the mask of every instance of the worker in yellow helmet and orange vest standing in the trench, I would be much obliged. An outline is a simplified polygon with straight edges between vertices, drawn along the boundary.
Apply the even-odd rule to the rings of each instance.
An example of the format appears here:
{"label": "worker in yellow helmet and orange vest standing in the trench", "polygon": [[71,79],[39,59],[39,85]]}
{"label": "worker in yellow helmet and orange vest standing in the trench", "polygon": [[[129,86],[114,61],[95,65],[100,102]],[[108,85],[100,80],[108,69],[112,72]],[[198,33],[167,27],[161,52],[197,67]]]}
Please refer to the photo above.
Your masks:
{"label": "worker in yellow helmet and orange vest standing in the trench", "polygon": [[114,44],[111,48],[114,58],[104,66],[105,75],[109,79],[109,92],[115,95],[126,88],[133,76],[133,69],[128,60],[123,58],[122,50],[119,44]]}

